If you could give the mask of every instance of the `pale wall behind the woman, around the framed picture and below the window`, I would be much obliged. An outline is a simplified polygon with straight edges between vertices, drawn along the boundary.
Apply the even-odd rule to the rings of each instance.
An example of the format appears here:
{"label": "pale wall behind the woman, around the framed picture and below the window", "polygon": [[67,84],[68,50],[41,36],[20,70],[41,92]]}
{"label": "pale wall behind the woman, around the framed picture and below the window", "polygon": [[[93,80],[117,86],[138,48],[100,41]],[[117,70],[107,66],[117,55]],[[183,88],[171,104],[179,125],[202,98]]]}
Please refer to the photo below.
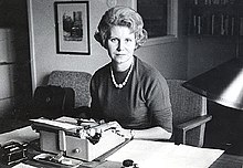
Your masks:
{"label": "pale wall behind the woman, around the framed picture and below the window", "polygon": [[[29,1],[33,88],[44,84],[45,76],[53,70],[86,71],[93,74],[109,62],[106,51],[93,38],[102,14],[108,9],[106,0],[89,0],[91,55],[56,54],[53,2],[54,0]],[[119,4],[131,7],[131,1],[118,0]],[[187,77],[187,41],[183,39],[141,48],[136,54],[159,69],[168,78]]]}

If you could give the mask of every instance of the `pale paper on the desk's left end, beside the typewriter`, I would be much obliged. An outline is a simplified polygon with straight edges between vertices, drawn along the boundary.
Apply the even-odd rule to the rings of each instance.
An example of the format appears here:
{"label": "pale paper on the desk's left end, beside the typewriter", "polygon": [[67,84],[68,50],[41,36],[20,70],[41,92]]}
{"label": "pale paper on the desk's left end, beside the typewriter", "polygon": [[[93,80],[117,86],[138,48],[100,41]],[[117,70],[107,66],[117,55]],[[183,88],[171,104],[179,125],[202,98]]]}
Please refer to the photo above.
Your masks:
{"label": "pale paper on the desk's left end, beside the typewriter", "polygon": [[38,138],[39,138],[39,133],[35,133],[35,130],[33,130],[31,126],[27,126],[20,129],[0,134],[0,144],[4,144],[10,140],[29,143]]}

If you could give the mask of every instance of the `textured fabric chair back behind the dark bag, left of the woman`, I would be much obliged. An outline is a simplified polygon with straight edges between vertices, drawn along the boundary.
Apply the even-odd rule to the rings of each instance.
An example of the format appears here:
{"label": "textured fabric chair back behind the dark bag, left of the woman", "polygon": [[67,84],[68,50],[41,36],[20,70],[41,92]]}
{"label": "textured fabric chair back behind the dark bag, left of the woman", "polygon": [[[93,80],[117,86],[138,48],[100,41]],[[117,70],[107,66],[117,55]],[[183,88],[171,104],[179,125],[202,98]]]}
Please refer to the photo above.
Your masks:
{"label": "textured fabric chair back behind the dark bag, left of the woman", "polygon": [[51,72],[47,85],[55,85],[62,87],[71,87],[75,93],[74,107],[89,106],[89,82],[92,74],[87,72],[76,71],[53,71]]}

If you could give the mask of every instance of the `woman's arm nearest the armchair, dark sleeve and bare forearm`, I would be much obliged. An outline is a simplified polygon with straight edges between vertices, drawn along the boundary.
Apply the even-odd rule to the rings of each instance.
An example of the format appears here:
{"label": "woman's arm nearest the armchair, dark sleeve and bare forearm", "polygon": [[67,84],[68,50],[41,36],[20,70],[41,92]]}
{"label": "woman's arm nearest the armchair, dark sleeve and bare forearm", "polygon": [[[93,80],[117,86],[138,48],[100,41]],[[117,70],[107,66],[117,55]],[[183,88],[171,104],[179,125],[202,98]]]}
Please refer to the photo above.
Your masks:
{"label": "woman's arm nearest the armchair, dark sleeve and bare forearm", "polygon": [[169,139],[172,134],[172,108],[166,78],[158,72],[145,80],[145,99],[150,114],[150,128],[135,130],[135,138]]}

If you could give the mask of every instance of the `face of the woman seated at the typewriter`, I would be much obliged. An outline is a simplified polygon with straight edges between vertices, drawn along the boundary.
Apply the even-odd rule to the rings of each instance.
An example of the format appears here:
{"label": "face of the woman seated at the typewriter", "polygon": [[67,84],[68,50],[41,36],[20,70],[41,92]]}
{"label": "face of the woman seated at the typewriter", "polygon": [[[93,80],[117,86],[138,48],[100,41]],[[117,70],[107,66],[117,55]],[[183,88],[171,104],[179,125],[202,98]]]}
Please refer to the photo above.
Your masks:
{"label": "face of the woman seated at the typewriter", "polygon": [[107,51],[114,63],[122,64],[129,61],[136,48],[135,33],[127,27],[113,27],[107,41]]}

